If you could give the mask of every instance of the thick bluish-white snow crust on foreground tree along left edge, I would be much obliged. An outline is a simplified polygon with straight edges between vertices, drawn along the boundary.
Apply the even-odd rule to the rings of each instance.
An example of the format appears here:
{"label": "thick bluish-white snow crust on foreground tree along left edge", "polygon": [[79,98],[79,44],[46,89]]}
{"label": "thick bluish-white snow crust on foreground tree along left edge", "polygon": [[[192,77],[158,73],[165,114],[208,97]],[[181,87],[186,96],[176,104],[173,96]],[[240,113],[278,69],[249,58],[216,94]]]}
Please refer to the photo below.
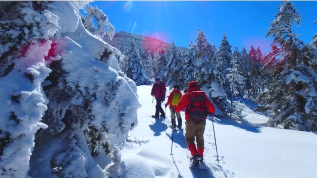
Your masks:
{"label": "thick bluish-white snow crust on foreground tree along left edge", "polygon": [[[3,150],[0,167],[11,169],[9,174],[15,177],[22,177],[29,170],[34,134],[39,128],[47,128],[40,120],[47,110],[41,82],[51,71],[44,65],[43,58],[49,47],[49,42],[30,45],[32,50],[25,57],[16,59],[15,68],[0,77],[0,134],[1,138],[8,134],[10,142]],[[32,81],[25,73],[32,76]]]}

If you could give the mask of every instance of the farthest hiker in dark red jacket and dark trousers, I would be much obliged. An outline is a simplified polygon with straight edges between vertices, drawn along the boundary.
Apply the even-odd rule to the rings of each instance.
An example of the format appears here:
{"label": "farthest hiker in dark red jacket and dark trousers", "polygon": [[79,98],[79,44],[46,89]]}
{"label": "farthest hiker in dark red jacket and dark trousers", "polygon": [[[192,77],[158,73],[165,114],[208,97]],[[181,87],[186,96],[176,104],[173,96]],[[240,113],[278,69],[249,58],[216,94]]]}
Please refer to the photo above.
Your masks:
{"label": "farthest hiker in dark red jacket and dark trousers", "polygon": [[160,81],[158,77],[155,78],[155,83],[152,87],[151,95],[154,96],[157,100],[157,105],[155,106],[155,115],[152,115],[152,118],[159,119],[159,116],[165,118],[165,113],[161,107],[161,103],[165,101],[165,92],[165,83],[163,81]]}

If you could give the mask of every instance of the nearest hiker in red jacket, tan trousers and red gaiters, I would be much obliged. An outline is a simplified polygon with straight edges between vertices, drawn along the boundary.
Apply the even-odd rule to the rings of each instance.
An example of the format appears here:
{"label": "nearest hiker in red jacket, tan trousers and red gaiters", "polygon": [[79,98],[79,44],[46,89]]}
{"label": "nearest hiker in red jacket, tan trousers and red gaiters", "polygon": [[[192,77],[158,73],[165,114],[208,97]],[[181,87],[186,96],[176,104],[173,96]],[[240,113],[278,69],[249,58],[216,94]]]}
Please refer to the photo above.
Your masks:
{"label": "nearest hiker in red jacket, tan trousers and red gaiters", "polygon": [[[204,132],[207,115],[214,114],[215,109],[205,92],[200,90],[197,81],[189,82],[189,89],[183,95],[175,112],[185,110],[186,143],[194,161],[203,161]],[[195,137],[197,149],[195,145]]]}

